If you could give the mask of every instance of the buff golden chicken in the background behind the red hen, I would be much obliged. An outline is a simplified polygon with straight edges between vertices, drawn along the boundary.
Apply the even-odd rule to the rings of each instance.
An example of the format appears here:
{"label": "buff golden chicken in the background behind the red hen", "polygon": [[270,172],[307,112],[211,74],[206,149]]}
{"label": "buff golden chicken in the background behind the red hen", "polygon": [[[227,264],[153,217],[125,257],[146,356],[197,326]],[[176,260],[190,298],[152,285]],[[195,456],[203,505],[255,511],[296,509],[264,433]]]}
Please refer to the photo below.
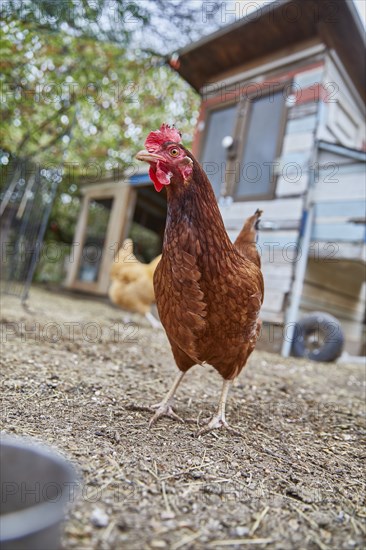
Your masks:
{"label": "buff golden chicken in the background behind the red hen", "polygon": [[149,264],[139,262],[133,254],[132,240],[126,239],[112,264],[112,283],[108,291],[114,304],[145,315],[154,328],[161,327],[151,313],[151,305],[155,302],[153,276],[160,258],[157,256]]}

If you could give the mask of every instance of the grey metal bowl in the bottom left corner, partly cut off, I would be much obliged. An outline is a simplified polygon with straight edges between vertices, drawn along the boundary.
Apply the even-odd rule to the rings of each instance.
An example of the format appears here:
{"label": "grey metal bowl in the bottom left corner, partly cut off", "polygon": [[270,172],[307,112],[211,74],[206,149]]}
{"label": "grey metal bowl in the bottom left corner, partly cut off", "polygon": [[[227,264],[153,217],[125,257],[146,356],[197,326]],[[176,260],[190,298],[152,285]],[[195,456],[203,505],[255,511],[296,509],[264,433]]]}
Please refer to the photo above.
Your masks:
{"label": "grey metal bowl in the bottom left corner, partly cut off", "polygon": [[74,467],[31,440],[0,441],[1,550],[57,550],[65,508],[75,498]]}

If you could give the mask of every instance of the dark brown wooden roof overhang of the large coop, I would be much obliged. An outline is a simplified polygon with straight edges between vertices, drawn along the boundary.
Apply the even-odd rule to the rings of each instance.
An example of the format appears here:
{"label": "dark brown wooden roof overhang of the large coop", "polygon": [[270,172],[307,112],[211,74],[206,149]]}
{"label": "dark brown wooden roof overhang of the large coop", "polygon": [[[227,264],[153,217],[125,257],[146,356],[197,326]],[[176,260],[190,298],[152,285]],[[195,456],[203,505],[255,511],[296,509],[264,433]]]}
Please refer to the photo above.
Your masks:
{"label": "dark brown wooden roof overhang of the large coop", "polygon": [[183,48],[171,65],[200,91],[222,73],[312,39],[336,50],[365,97],[365,31],[350,0],[276,0]]}

